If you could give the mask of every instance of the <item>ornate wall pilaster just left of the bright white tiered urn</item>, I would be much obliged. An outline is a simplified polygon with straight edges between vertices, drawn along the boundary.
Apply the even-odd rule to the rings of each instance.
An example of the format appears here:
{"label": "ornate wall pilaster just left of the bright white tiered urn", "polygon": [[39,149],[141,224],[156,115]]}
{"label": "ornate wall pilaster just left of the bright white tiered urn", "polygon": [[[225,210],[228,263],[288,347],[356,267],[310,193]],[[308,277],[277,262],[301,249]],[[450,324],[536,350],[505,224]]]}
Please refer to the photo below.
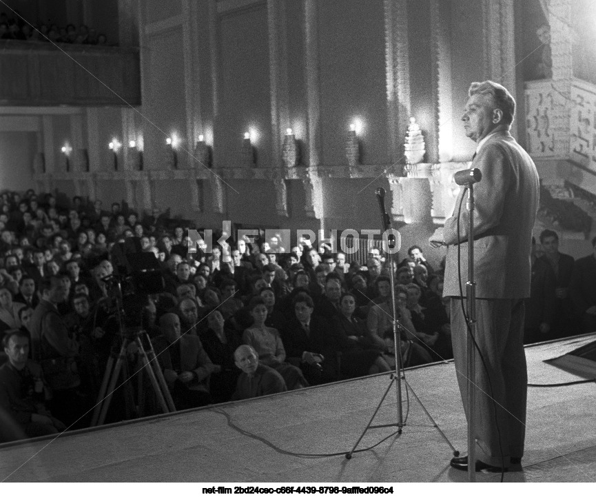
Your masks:
{"label": "ornate wall pilaster just left of the bright white tiered urn", "polygon": [[389,158],[404,163],[403,137],[411,115],[407,0],[384,0]]}

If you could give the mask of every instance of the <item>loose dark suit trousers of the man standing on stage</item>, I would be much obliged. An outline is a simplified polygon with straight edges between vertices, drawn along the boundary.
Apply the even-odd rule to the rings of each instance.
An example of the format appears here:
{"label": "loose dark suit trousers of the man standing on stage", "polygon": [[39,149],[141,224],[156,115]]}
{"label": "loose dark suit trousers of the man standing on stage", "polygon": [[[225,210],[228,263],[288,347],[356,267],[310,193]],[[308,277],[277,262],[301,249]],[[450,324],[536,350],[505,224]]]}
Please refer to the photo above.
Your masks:
{"label": "loose dark suit trousers of the man standing on stage", "polygon": [[[463,301],[464,307],[466,302]],[[466,321],[462,299],[451,298],[453,357],[466,418],[473,416],[477,459],[508,467],[510,458],[524,454],[528,372],[524,352],[524,301],[482,298],[476,300],[475,339],[484,363],[476,354],[475,406],[468,403]],[[487,375],[488,370],[488,375]],[[489,382],[490,379],[490,382]],[[493,402],[493,398],[495,402]]]}

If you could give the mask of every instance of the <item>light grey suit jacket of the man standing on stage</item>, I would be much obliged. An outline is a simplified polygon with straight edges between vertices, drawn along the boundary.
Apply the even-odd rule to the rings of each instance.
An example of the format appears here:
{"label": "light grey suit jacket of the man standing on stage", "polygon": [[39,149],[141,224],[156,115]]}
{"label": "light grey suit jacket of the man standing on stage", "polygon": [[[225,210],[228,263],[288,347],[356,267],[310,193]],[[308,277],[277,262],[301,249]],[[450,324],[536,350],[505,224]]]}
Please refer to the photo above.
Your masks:
{"label": "light grey suit jacket of the man standing on stage", "polygon": [[[507,131],[495,132],[472,162],[482,180],[474,185],[475,281],[478,298],[526,298],[530,296],[530,249],[539,196],[536,167],[526,151]],[[443,236],[447,245],[445,296],[459,296],[458,243],[461,241],[462,289],[468,275],[467,191],[455,201]],[[460,214],[458,239],[458,206]]]}

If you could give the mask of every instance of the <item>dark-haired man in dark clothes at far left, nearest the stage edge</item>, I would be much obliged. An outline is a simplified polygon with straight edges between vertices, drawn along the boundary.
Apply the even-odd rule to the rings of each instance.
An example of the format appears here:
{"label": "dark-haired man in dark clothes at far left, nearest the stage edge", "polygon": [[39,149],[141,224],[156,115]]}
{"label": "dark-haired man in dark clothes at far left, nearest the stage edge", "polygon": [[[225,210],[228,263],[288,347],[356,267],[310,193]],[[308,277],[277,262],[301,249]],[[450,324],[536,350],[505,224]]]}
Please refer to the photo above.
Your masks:
{"label": "dark-haired man in dark clothes at far left, nearest the stage edge", "polygon": [[0,442],[63,432],[65,425],[45,406],[41,367],[28,359],[28,334],[13,330],[3,347],[8,361],[0,367]]}

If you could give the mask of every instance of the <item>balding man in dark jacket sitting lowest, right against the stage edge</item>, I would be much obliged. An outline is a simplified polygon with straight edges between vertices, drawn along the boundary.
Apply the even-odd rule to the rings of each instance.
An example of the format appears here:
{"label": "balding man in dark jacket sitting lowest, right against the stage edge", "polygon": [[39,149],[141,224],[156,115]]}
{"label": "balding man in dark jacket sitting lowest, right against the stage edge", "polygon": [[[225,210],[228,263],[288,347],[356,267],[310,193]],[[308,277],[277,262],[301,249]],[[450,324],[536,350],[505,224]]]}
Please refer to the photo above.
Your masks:
{"label": "balding man in dark jacket sitting lowest, right against the stage edge", "polygon": [[240,345],[234,352],[234,362],[242,370],[232,400],[260,397],[285,392],[287,387],[275,369],[258,362],[258,356],[250,345]]}

